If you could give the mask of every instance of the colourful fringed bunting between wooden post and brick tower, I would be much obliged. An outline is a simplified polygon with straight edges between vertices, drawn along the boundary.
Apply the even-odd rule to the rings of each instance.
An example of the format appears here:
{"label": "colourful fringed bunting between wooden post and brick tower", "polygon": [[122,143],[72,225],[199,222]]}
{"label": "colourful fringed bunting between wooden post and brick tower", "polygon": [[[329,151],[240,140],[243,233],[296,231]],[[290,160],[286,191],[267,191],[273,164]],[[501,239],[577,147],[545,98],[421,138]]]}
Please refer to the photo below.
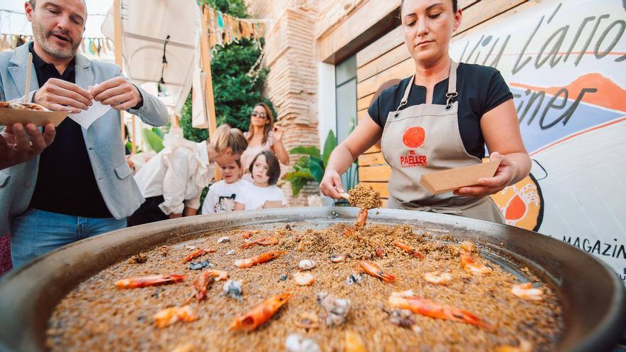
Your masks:
{"label": "colourful fringed bunting between wooden post and brick tower", "polygon": [[204,21],[208,28],[211,48],[238,43],[242,38],[258,42],[265,36],[266,24],[270,22],[265,19],[236,18],[211,7],[207,9],[208,14]]}

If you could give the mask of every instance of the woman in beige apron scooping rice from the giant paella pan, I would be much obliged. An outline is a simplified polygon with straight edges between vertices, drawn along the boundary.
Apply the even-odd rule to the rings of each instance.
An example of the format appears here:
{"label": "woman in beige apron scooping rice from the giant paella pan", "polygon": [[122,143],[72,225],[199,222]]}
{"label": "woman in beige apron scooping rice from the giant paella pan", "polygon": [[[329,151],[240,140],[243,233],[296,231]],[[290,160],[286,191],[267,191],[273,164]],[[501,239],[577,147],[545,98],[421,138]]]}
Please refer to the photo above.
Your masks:
{"label": "woman in beige apron scooping rice from the giant paella pan", "polygon": [[[339,198],[340,175],[381,139],[391,166],[388,208],[504,223],[489,195],[528,176],[531,168],[509,87],[494,68],[450,59],[452,32],[462,17],[457,0],[403,0],[400,17],[415,75],[383,91],[336,147],[322,193]],[[422,174],[482,162],[484,144],[490,159],[500,160],[494,177],[439,195],[420,185]]]}

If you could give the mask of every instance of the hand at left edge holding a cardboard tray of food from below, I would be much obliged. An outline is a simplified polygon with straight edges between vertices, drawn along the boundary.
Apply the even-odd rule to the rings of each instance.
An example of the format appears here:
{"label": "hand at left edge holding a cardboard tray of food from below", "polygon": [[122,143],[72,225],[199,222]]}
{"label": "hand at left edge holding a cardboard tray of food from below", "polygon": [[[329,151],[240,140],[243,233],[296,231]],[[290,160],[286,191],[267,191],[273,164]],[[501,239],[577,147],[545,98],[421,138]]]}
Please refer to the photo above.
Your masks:
{"label": "hand at left edge holding a cardboard tray of food from below", "polygon": [[[46,124],[41,134],[35,124],[6,126],[0,134],[0,169],[23,163],[41,154],[52,144],[56,134],[53,124]],[[29,138],[30,137],[30,140]]]}

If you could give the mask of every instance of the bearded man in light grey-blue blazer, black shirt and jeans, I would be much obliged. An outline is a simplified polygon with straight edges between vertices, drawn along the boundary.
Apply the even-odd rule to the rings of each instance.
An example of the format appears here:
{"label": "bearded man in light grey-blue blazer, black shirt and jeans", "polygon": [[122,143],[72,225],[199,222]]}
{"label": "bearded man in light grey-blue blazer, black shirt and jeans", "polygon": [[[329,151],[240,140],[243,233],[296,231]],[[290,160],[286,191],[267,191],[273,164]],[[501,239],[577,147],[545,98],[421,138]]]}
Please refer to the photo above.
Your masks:
{"label": "bearded man in light grey-blue blazer, black shirt and jeans", "polygon": [[[112,109],[89,129],[65,119],[40,156],[0,171],[0,235],[11,234],[14,267],[124,228],[144,198],[124,158],[120,111],[153,126],[168,118],[163,103],[127,82],[117,65],[76,53],[87,19],[83,0],[30,0],[24,7],[34,43],[0,53],[0,100],[26,97],[50,110],[71,112],[87,110],[95,100]],[[27,78],[29,52],[33,66]],[[26,79],[31,92],[23,92]]]}

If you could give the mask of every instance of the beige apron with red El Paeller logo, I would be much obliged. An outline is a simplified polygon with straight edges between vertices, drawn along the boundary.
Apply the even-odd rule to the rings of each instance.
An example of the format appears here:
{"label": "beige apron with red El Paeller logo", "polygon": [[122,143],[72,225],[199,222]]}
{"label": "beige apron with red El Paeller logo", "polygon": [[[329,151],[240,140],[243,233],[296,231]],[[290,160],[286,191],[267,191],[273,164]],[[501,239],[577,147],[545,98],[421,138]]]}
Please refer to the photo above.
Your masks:
{"label": "beige apron with red El Paeller logo", "polygon": [[[383,129],[382,152],[391,166],[388,208],[423,210],[462,215],[468,218],[504,223],[502,213],[491,197],[457,197],[452,192],[434,195],[420,183],[422,174],[479,164],[467,154],[457,117],[457,67],[452,61],[447,104],[420,104],[405,107],[413,87],[413,76],[398,109],[389,112]],[[405,107],[404,109],[402,109]]]}

